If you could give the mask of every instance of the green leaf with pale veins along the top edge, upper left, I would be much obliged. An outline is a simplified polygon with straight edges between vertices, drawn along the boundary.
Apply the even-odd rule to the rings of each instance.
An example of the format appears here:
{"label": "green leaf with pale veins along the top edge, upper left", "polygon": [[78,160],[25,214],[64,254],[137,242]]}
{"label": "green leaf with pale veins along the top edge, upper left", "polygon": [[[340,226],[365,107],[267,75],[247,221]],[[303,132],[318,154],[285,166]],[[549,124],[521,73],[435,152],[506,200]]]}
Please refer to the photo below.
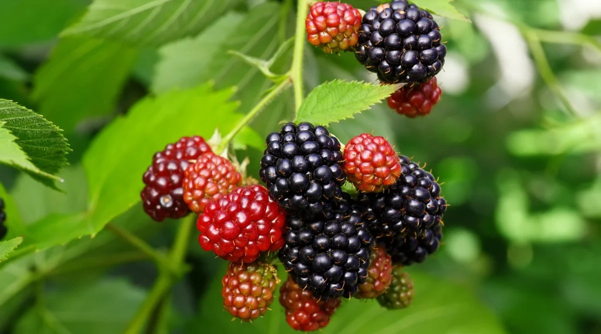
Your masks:
{"label": "green leaf with pale veins along the top edge, upper left", "polygon": [[157,46],[194,35],[241,0],[95,0],[62,35],[87,34]]}

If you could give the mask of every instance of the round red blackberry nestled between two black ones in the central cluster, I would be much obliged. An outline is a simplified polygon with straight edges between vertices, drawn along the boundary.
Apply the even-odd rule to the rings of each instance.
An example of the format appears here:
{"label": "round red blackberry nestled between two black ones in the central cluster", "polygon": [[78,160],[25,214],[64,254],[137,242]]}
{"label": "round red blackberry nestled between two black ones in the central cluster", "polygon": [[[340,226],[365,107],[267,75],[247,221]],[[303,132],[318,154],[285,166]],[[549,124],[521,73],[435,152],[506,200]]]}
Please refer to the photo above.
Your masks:
{"label": "round red blackberry nestled between two black ones in the central cluster", "polygon": [[394,184],[401,165],[385,138],[362,133],[344,145],[343,170],[347,179],[363,192],[381,192]]}

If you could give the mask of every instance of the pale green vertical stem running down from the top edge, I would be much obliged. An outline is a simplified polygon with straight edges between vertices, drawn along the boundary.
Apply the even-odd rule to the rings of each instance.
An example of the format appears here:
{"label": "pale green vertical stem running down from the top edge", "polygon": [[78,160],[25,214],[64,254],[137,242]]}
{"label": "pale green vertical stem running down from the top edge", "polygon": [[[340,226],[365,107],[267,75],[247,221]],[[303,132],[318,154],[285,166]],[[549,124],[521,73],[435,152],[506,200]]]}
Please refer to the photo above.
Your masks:
{"label": "pale green vertical stem running down from the top edge", "polygon": [[[305,0],[298,0],[296,9],[296,31],[294,31],[294,53],[292,58],[291,77],[294,83],[294,111],[298,111],[304,98],[302,82],[302,59],[305,46],[305,20],[308,5]],[[296,117],[294,117],[296,118]]]}

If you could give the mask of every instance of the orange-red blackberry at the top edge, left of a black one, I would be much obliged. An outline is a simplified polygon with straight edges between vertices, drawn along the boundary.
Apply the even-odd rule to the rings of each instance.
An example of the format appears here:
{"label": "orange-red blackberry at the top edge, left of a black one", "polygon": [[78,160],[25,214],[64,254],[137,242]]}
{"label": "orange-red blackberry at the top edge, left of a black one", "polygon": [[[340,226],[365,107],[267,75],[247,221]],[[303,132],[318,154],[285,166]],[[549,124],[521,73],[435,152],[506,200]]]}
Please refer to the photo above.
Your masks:
{"label": "orange-red blackberry at the top edge, left of a black one", "polygon": [[352,48],[359,41],[361,13],[352,5],[318,1],[311,5],[305,28],[307,40],[326,53]]}

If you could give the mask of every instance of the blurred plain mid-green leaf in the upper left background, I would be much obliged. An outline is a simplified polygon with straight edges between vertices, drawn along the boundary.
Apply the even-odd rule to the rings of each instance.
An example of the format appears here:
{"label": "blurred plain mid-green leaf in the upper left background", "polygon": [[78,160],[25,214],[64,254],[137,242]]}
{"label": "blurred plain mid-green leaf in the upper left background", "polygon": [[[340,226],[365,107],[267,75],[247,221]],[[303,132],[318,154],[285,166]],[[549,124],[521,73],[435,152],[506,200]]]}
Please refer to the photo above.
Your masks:
{"label": "blurred plain mid-green leaf in the upper left background", "polygon": [[63,38],[34,76],[40,113],[67,133],[85,118],[115,109],[136,51],[110,41]]}

